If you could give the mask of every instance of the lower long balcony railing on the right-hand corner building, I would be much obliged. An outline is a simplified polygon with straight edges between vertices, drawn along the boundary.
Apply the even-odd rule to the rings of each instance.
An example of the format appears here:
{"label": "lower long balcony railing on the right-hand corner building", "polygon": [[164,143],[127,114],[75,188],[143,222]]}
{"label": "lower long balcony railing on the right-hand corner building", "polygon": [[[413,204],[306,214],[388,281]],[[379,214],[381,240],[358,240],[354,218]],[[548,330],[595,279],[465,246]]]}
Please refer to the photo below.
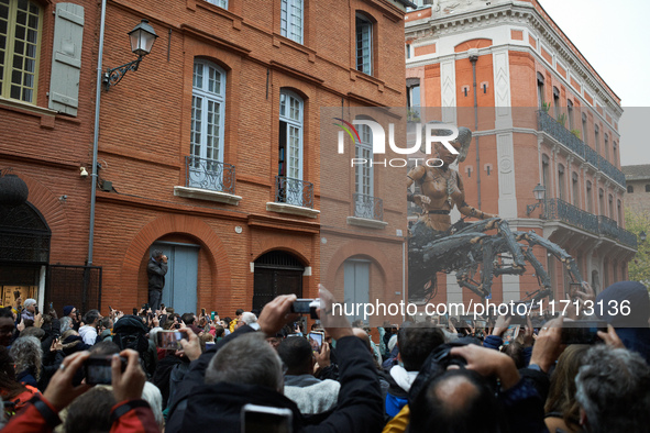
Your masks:
{"label": "lower long balcony railing on the right-hand corner building", "polygon": [[543,215],[547,220],[560,220],[593,234],[607,236],[635,249],[637,248],[637,236],[619,227],[616,221],[605,215],[596,216],[585,212],[564,200],[547,200]]}

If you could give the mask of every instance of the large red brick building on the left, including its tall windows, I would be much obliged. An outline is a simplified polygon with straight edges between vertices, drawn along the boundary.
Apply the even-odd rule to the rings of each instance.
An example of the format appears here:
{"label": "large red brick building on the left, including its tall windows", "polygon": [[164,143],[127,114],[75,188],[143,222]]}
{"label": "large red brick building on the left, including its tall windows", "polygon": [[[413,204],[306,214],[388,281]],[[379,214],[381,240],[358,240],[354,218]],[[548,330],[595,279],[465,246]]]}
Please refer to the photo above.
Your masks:
{"label": "large red brick building on the left, including its tall windows", "polygon": [[[22,3],[9,0],[0,16],[14,38],[22,37],[15,33]],[[0,285],[36,286],[42,306],[52,299],[60,309],[64,288],[46,270],[89,258],[92,176],[79,175],[92,168],[101,5],[27,3],[40,21],[37,55],[23,71],[35,68],[37,86],[26,100],[3,76],[0,167],[27,184],[25,207],[41,223],[32,229],[49,231],[49,247],[38,260],[2,257]],[[53,11],[62,4],[66,11],[56,16],[81,30],[62,36],[57,48]],[[345,274],[348,259],[364,264],[359,271],[370,282],[340,292],[401,287],[401,274],[393,275],[401,256],[363,242],[382,231],[392,234],[384,235],[388,248],[401,251],[401,197],[385,199],[390,212],[381,216],[359,215],[361,225],[351,224],[345,236],[321,234],[326,197],[355,216],[359,191],[354,174],[349,190],[321,188],[320,108],[405,106],[404,13],[403,2],[389,0],[108,2],[102,69],[133,59],[126,33],[141,19],[158,37],[137,71],[101,92],[90,265],[101,267],[103,312],[146,302],[145,266],[156,247],[170,258],[164,301],[181,311],[205,307],[227,315],[276,293],[313,297],[317,282]],[[66,55],[79,74],[63,73],[77,80],[78,102],[70,104],[73,91],[59,107],[52,101],[60,73],[51,64]],[[3,66],[10,70],[8,60]],[[390,185],[386,177],[372,181],[376,193]],[[333,249],[321,257],[326,244]],[[21,279],[15,269],[23,265],[42,274]]]}

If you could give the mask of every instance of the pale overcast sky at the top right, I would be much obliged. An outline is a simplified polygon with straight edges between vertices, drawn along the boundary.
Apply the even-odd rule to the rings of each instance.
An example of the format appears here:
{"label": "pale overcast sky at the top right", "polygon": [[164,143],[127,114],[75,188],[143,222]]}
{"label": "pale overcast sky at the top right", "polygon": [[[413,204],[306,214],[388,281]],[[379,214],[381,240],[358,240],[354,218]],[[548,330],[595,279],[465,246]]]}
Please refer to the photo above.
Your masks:
{"label": "pale overcast sky at the top right", "polygon": [[650,164],[650,1],[539,0],[621,100],[623,165]]}

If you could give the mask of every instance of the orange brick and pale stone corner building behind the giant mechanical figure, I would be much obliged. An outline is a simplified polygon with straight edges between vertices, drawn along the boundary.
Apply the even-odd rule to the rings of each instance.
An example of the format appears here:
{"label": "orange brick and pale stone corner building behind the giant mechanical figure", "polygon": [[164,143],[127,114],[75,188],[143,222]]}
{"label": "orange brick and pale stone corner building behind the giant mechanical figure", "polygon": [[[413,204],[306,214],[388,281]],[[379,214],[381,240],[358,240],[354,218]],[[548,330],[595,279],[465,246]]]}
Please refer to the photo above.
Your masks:
{"label": "orange brick and pale stone corner building behind the giant mechanical figure", "polygon": [[[467,202],[566,249],[596,290],[625,279],[636,238],[624,229],[620,99],[538,1],[433,3],[406,16],[409,107],[439,108],[474,132],[459,168]],[[538,184],[546,201],[528,212]],[[564,267],[535,252],[563,299]],[[447,282],[438,301],[476,300]],[[493,300],[537,288],[530,269],[504,276]]]}

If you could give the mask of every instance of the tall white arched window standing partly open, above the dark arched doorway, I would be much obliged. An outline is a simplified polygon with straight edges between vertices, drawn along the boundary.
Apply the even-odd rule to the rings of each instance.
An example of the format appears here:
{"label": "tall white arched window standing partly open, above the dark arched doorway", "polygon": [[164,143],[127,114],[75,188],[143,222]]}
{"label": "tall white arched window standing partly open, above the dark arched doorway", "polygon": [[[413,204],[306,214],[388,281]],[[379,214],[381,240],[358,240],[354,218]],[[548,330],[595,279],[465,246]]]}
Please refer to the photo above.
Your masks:
{"label": "tall white arched window standing partly open, above the dark arched doorway", "polygon": [[279,93],[278,176],[285,177],[285,197],[289,204],[302,206],[302,99],[289,90]]}

